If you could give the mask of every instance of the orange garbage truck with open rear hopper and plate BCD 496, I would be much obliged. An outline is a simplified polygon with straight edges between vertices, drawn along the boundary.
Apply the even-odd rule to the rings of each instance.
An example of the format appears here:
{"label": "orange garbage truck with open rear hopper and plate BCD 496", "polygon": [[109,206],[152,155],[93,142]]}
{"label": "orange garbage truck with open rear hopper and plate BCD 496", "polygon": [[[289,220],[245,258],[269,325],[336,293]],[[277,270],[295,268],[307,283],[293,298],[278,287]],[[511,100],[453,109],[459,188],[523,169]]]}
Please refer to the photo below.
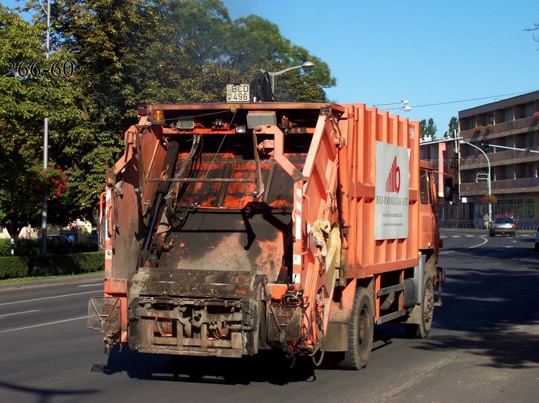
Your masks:
{"label": "orange garbage truck with open rear hopper and plate BCD 496", "polygon": [[102,194],[105,296],[88,326],[107,346],[360,369],[375,324],[428,335],[444,272],[418,122],[362,103],[139,115]]}

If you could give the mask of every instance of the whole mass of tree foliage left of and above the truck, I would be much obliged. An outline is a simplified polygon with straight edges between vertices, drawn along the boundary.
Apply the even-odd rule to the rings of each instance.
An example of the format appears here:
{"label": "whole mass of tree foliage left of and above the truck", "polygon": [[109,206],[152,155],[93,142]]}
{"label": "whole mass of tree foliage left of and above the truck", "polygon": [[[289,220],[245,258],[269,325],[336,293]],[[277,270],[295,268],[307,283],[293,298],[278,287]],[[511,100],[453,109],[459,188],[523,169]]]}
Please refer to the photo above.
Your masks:
{"label": "whole mass of tree foliage left of and above the truck", "polygon": [[[0,9],[2,62],[39,60],[45,66],[45,16],[27,2],[32,23]],[[49,217],[89,217],[105,185],[123,133],[144,103],[222,102],[226,84],[250,82],[260,70],[280,71],[313,61],[314,68],[278,76],[282,101],[324,102],[335,85],[328,65],[282,37],[277,25],[251,15],[232,20],[220,0],[58,0],[51,4],[51,57],[75,65],[71,77],[1,78],[0,158],[3,183],[38,165],[43,118],[49,116],[49,159],[70,178]],[[26,175],[27,176],[27,175]],[[15,186],[0,188],[0,223],[18,211],[35,225],[40,205]],[[23,203],[25,201],[26,204]],[[52,222],[52,220],[50,219]]]}

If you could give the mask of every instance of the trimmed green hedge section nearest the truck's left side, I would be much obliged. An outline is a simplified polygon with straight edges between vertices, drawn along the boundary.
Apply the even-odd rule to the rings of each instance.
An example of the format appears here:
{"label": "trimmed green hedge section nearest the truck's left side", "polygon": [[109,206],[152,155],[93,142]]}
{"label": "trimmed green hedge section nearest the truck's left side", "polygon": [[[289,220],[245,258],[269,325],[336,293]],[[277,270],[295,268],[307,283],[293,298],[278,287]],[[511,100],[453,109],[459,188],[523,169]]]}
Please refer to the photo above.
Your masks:
{"label": "trimmed green hedge section nearest the truck's left side", "polygon": [[105,252],[74,253],[71,255],[38,255],[34,258],[32,275],[59,276],[100,272],[105,269]]}

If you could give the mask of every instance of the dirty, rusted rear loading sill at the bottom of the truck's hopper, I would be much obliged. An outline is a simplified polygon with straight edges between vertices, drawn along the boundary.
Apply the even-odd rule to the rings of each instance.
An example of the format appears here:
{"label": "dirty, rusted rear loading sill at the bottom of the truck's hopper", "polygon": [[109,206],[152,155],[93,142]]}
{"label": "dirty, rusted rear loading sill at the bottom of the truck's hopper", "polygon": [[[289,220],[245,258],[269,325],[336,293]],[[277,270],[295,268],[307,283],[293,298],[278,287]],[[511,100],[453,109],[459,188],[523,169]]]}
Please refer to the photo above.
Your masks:
{"label": "dirty, rusted rear loading sill at the bottom of the truck's hopper", "polygon": [[[161,273],[160,281],[148,281]],[[128,342],[140,352],[241,357],[258,352],[265,329],[265,276],[139,269],[129,281]],[[182,273],[183,272],[183,273]],[[213,277],[212,277],[213,276]],[[218,281],[215,276],[225,276]],[[200,278],[199,278],[200,277]],[[202,277],[215,282],[195,282]],[[243,279],[243,284],[233,281]],[[190,283],[190,284],[189,284]],[[148,286],[151,284],[151,286]]]}

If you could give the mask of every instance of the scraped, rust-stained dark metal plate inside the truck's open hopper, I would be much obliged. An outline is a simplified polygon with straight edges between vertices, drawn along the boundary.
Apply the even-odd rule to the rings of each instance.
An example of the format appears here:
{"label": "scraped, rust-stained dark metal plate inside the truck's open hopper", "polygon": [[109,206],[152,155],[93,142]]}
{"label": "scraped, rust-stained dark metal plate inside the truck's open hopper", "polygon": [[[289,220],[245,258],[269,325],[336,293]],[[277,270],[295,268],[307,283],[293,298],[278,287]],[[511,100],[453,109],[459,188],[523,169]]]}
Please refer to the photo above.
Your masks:
{"label": "scraped, rust-stained dark metal plate inside the truck's open hopper", "polygon": [[169,269],[252,272],[277,281],[292,259],[291,215],[266,211],[195,211],[167,239],[174,248],[161,265]]}

